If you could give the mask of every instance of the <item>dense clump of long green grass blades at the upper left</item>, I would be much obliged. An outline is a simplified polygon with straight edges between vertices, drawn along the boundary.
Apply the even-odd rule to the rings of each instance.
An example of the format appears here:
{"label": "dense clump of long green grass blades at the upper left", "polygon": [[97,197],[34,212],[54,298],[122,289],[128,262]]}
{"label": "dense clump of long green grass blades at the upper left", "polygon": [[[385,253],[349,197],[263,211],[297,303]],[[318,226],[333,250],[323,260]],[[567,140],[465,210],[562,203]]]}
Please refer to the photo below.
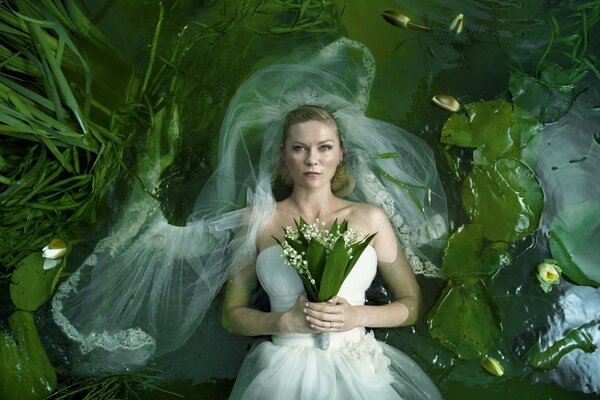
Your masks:
{"label": "dense clump of long green grass blades at the upper left", "polygon": [[[0,263],[6,268],[76,223],[123,171],[127,110],[119,114],[92,97],[91,69],[72,35],[107,41],[80,14],[73,1],[0,5]],[[81,84],[72,86],[76,77]]]}

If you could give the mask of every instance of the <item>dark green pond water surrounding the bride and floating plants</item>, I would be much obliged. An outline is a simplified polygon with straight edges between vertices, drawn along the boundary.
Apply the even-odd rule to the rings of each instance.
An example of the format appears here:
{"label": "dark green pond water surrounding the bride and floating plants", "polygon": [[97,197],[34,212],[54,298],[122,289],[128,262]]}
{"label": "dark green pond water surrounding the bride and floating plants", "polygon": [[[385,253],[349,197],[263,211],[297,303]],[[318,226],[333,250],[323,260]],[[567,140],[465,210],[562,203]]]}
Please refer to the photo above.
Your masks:
{"label": "dark green pond water surrounding the bride and floating plants", "polygon": [[[159,8],[157,2],[112,0],[83,1],[94,23],[123,53],[120,62],[92,58],[96,79],[110,82],[107,101],[118,100],[130,68],[143,71]],[[340,35],[364,43],[373,53],[377,74],[367,115],[404,127],[427,141],[440,156],[440,174],[447,190],[451,228],[465,216],[460,206],[460,185],[451,179],[441,160],[440,131],[449,114],[432,105],[435,94],[449,94],[466,104],[479,100],[510,98],[510,74],[535,75],[551,37],[554,18],[567,37],[581,31],[585,2],[557,1],[442,1],[418,2],[352,0],[322,2],[317,11],[330,16],[322,31],[268,32],[289,27],[290,18],[253,13],[271,1],[171,1],[165,2],[165,18],[158,53],[186,48],[179,61],[185,78],[175,96],[182,112],[182,136],[175,143],[175,163],[163,173],[161,201],[172,221],[184,217],[193,206],[198,181],[215,165],[216,136],[227,104],[238,85],[260,66],[293,53],[294,47],[318,48]],[[282,2],[286,3],[286,2]],[[300,2],[302,3],[302,2]],[[321,2],[317,2],[321,4]],[[433,28],[426,32],[392,26],[383,10],[399,10],[415,22]],[[321,10],[321,11],[319,11]],[[465,31],[448,31],[458,13],[465,16]],[[591,25],[587,53],[600,54],[599,28]],[[184,28],[185,27],[185,28]],[[179,42],[177,41],[179,38]],[[177,44],[179,43],[179,44]],[[567,64],[569,43],[557,41],[548,58]],[[562,47],[561,47],[562,46]],[[132,67],[130,67],[132,66]],[[493,354],[505,366],[505,374],[487,374],[478,361],[460,361],[436,343],[425,323],[415,328],[380,330],[377,335],[407,352],[431,375],[446,399],[587,399],[600,394],[600,356],[576,350],[555,371],[536,372],[517,353],[536,343],[549,342],[566,331],[596,320],[589,332],[600,344],[600,289],[563,281],[544,294],[534,277],[535,266],[550,258],[548,232],[554,217],[566,206],[600,199],[600,89],[599,77],[588,73],[579,84],[576,102],[558,122],[541,133],[535,173],[544,189],[540,228],[511,244],[513,262],[489,284],[499,306],[502,336]],[[585,90],[583,90],[585,89]],[[111,94],[112,93],[112,94]],[[112,96],[112,97],[111,97]],[[140,140],[140,142],[143,142]],[[114,209],[119,208],[114,195]],[[114,215],[113,215],[114,217]],[[110,218],[107,216],[107,219]],[[596,239],[600,234],[593,236]],[[590,243],[595,245],[596,242]],[[444,282],[420,278],[426,304],[431,307]],[[181,349],[157,361],[164,368],[160,386],[186,398],[226,398],[237,368],[251,339],[226,334],[218,324],[218,308]],[[198,343],[211,345],[197,346]],[[214,344],[214,346],[212,345]],[[166,367],[165,367],[166,366]],[[157,390],[140,390],[141,398],[176,398]]]}

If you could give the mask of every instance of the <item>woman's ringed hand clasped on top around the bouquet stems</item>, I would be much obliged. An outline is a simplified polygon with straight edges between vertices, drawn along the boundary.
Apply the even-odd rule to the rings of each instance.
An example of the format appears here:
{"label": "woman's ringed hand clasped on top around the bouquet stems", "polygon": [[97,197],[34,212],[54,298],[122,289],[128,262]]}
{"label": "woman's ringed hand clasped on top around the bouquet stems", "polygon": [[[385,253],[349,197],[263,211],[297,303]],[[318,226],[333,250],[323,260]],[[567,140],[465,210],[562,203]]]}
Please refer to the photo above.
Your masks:
{"label": "woman's ringed hand clasped on top around the bouquet stems", "polygon": [[306,303],[304,313],[310,328],[317,332],[344,332],[360,326],[356,307],[340,296],[322,303]]}

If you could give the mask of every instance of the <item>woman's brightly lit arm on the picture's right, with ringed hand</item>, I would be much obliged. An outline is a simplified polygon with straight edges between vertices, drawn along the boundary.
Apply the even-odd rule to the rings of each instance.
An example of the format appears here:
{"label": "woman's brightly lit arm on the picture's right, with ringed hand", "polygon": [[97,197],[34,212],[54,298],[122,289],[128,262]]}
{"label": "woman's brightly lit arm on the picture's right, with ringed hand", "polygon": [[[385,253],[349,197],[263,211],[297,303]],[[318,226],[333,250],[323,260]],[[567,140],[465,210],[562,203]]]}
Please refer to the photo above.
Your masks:
{"label": "woman's brightly lit arm on the picture's right, with ringed hand", "polygon": [[[396,235],[385,213],[373,207],[369,210],[372,226],[377,226],[373,246],[378,267],[395,301],[381,306],[352,306],[334,296],[325,303],[310,303],[309,322],[319,331],[346,331],[354,327],[396,327],[414,324],[419,316],[421,291],[416,277],[400,249]],[[331,329],[334,322],[335,329]]]}

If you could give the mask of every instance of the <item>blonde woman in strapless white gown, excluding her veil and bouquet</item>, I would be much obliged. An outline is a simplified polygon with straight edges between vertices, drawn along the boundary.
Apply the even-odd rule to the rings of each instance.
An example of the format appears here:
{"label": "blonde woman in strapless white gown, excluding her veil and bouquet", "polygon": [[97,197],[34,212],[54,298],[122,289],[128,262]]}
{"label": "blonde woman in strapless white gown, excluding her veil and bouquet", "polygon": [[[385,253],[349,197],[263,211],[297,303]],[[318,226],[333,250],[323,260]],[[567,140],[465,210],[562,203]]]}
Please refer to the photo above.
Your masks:
{"label": "blonde woman in strapless white gown, excluding her veil and bouquet", "polygon": [[[287,175],[284,180],[292,181],[292,193],[277,203],[258,234],[258,260],[228,281],[223,313],[224,326],[231,332],[273,335],[273,342],[263,342],[252,350],[232,398],[440,398],[433,383],[405,355],[365,334],[364,327],[414,323],[420,291],[385,213],[332,192],[332,186],[349,179],[334,117],[318,106],[291,111],[284,121],[280,151]],[[274,239],[281,239],[282,227],[293,226],[300,217],[326,226],[336,219],[347,220],[358,232],[377,232],[372,247],[361,255],[340,294],[323,303],[307,301],[299,277],[283,263],[281,248]],[[366,306],[365,290],[376,268],[396,301]],[[274,311],[250,308],[258,280],[272,296]],[[331,334],[331,347],[326,350],[317,347],[315,333],[319,332]],[[370,356],[365,358],[361,352]]]}

